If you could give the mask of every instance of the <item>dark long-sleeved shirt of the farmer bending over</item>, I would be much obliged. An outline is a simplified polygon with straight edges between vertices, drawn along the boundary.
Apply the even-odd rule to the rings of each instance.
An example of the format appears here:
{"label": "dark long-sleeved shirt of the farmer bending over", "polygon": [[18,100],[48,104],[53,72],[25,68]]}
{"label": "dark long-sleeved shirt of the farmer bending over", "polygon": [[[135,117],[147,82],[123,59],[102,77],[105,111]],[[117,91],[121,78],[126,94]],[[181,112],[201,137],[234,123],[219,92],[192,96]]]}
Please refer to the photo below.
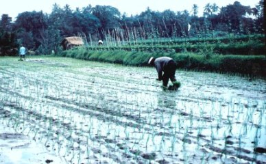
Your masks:
{"label": "dark long-sleeved shirt of the farmer bending over", "polygon": [[172,61],[171,57],[158,57],[154,61],[154,66],[158,72],[158,79],[162,80],[162,72],[165,72],[165,68],[169,61]]}

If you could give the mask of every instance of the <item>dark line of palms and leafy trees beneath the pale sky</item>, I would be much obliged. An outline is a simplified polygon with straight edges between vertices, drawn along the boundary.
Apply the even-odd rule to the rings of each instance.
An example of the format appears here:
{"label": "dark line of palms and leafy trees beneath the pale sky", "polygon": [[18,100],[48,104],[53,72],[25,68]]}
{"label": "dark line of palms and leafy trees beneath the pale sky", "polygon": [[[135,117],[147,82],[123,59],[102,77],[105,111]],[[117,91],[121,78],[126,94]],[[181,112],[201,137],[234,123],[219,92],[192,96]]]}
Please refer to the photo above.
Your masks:
{"label": "dark line of palms and leafy trees beneath the pale sky", "polygon": [[[114,40],[217,37],[228,33],[264,33],[264,5],[260,0],[255,8],[241,5],[239,1],[219,8],[207,3],[203,16],[198,16],[198,6],[173,12],[153,11],[127,16],[110,5],[88,5],[84,8],[63,8],[55,3],[50,14],[42,11],[23,12],[16,20],[3,14],[0,20],[0,54],[10,55],[19,45],[38,54],[50,54],[60,49],[64,37],[82,36],[87,42],[107,37]],[[12,51],[13,50],[13,51]]]}

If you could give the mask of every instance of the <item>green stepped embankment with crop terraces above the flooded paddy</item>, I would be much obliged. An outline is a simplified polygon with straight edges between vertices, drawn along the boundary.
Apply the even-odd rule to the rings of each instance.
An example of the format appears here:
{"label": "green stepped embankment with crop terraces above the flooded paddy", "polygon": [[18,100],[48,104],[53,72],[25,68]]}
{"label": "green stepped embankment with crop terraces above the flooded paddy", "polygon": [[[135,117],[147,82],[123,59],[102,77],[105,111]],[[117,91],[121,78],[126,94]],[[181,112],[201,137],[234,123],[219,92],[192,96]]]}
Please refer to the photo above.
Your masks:
{"label": "green stepped embankment with crop terraces above the flooded paddy", "polygon": [[262,35],[223,38],[173,38],[119,42],[106,40],[97,46],[63,51],[62,57],[105,61],[126,66],[147,66],[149,57],[172,57],[182,70],[197,70],[266,76],[265,37]]}

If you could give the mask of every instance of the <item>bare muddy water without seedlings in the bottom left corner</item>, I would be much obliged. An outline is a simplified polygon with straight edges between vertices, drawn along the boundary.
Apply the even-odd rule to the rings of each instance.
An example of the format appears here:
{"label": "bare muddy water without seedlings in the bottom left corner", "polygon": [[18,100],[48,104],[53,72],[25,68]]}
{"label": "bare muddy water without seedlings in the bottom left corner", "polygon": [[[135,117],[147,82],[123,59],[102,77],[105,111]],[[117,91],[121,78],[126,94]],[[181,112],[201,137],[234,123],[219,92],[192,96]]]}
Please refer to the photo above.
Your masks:
{"label": "bare muddy water without seedlings in the bottom left corner", "polygon": [[62,159],[41,143],[14,128],[1,124],[0,132],[0,163],[62,163]]}

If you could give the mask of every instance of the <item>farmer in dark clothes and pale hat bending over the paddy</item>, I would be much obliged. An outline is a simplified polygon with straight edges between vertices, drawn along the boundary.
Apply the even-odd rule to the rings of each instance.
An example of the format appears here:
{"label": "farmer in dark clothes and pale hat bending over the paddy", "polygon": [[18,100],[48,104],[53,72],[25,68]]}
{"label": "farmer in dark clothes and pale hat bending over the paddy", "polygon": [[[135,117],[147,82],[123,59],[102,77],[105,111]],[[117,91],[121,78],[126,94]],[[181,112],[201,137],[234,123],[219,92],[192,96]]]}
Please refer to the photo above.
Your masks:
{"label": "farmer in dark clothes and pale hat bending over the paddy", "polygon": [[[154,66],[158,72],[158,81],[162,81],[162,88],[163,89],[172,89],[175,87],[175,89],[178,89],[180,87],[180,82],[176,81],[176,62],[173,61],[171,57],[158,57],[154,58],[151,57],[149,59],[148,64]],[[163,72],[163,74],[162,74]],[[173,83],[173,86],[171,88],[167,88],[169,79]]]}

